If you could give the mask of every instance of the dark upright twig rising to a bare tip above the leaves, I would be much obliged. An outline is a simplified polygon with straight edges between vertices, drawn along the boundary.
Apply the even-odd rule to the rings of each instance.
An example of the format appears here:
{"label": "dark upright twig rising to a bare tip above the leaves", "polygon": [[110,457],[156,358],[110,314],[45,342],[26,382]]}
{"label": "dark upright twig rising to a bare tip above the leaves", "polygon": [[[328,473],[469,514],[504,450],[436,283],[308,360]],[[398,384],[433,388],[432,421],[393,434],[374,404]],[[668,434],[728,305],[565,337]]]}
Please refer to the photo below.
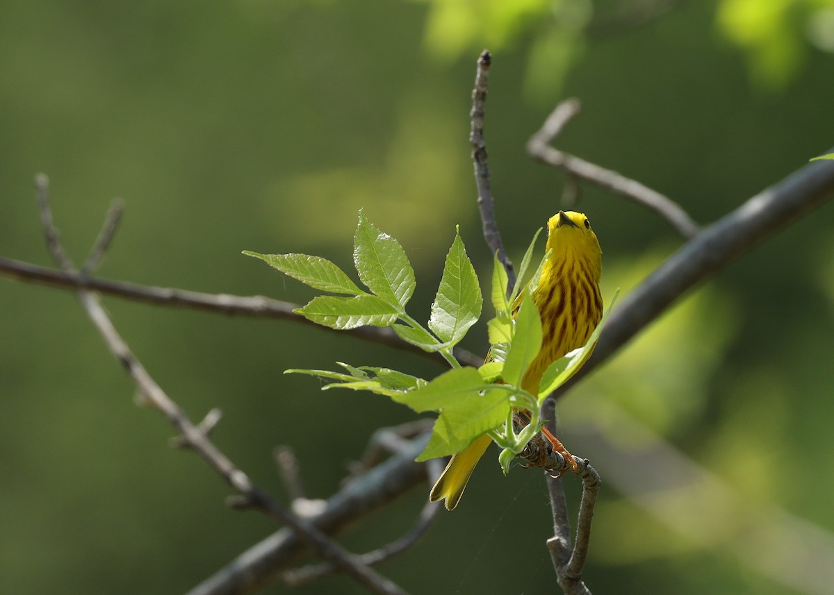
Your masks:
{"label": "dark upright twig rising to a bare tip above the leaves", "polygon": [[472,162],[475,164],[475,185],[478,188],[478,210],[484,228],[484,239],[487,246],[490,247],[490,252],[497,253],[499,262],[504,265],[507,278],[510,280],[511,291],[511,288],[515,287],[515,268],[505,252],[504,243],[501,242],[501,234],[498,231],[498,224],[495,223],[495,210],[490,185],[490,166],[487,163],[486,141],[484,140],[484,102],[486,101],[487,77],[490,73],[491,64],[492,56],[489,51],[484,50],[478,58],[475,88],[472,89],[470,145],[472,145]]}

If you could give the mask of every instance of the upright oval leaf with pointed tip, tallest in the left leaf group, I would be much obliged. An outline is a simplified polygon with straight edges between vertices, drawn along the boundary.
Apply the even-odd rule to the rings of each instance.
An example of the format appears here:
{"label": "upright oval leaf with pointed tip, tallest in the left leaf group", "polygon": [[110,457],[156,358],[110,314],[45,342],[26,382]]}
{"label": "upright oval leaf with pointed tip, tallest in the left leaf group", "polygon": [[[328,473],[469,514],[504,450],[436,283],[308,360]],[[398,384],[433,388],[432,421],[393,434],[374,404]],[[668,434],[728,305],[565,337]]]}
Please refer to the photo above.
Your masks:
{"label": "upright oval leaf with pointed tip, tallest in the left leaf group", "polygon": [[354,236],[354,264],[362,283],[404,312],[416,285],[414,269],[399,242],[380,232],[361,210]]}

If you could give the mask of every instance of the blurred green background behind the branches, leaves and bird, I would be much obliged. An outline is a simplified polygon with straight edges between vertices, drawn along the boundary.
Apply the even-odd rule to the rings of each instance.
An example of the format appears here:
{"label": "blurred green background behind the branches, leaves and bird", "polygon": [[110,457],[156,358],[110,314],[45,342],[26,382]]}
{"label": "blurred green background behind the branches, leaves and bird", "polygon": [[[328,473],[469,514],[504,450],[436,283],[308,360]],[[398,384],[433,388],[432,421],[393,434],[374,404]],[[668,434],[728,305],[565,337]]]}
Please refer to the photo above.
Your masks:
{"label": "blurred green background behind the branches, leaves and bird", "polygon": [[[834,145],[834,5],[670,4],[632,24],[605,18],[629,2],[7,0],[0,254],[48,264],[32,182],[45,172],[77,261],[109,201],[127,203],[104,277],[301,302],[311,294],[241,250],[315,253],[347,268],[364,208],[414,263],[412,313],[425,318],[455,224],[483,279],[490,266],[467,143],[482,47],[495,55],[496,213],[515,258],[559,208],[563,183],[525,155],[525,141],[569,96],[583,113],[561,148],[711,222]],[[571,420],[615,408],[831,546],[832,209],[722,270],[570,393],[565,442]],[[605,250],[606,301],[680,243],[651,213],[595,188],[580,210]],[[309,495],[327,497],[375,428],[414,418],[373,395],[319,393],[285,368],[442,369],[291,323],[104,303],[193,418],[224,411],[219,447],[282,498],[276,444],[296,449]],[[484,345],[475,328],[466,346]],[[0,281],[0,591],[184,592],[274,530],[226,509],[229,489],[168,448],[168,424],[132,395],[72,293]],[[628,440],[616,423],[605,433]],[[425,493],[344,544],[364,551],[397,537]],[[763,576],[728,542],[672,530],[615,485],[597,514],[586,568],[595,592],[806,592]],[[380,571],[414,593],[554,592],[548,515],[538,474],[502,478],[487,459],[459,509]],[[264,592],[290,590],[364,592],[344,577]]]}

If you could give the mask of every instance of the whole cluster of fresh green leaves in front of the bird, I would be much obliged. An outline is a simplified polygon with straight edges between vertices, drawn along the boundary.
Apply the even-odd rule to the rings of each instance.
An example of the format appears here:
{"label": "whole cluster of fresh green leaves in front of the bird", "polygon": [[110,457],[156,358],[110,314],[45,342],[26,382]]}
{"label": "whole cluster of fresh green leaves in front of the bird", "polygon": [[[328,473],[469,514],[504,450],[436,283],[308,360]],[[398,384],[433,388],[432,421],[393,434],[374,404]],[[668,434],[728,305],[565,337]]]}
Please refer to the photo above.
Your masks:
{"label": "whole cluster of fresh green leaves in front of the bird", "polygon": [[[530,268],[535,236],[521,261],[519,279]],[[539,353],[542,343],[541,321],[532,294],[538,283],[545,258],[526,287],[516,284],[508,292],[507,275],[494,259],[490,299],[495,317],[488,323],[490,354],[480,368],[461,366],[455,359],[455,345],[480,318],[483,298],[475,268],[466,254],[460,230],[446,255],[440,286],[431,305],[430,318],[424,326],[409,316],[405,307],[414,294],[414,268],[405,251],[387,233],[382,233],[359,211],[354,236],[354,266],[360,288],[334,263],[308,254],[259,254],[259,258],[281,273],[311,288],[336,294],[313,298],[296,313],[314,323],[346,330],[365,325],[391,327],[399,338],[427,352],[440,353],[452,369],[431,380],[417,378],[390,368],[354,367],[338,363],[340,372],[289,369],[285,373],[304,373],[330,381],[329,388],[365,390],[391,398],[417,413],[436,412],[438,418],[428,445],[418,460],[458,453],[485,433],[504,452],[500,461],[505,473],[510,459],[541,428],[540,402],[547,394],[570,378],[590,355],[602,322],[589,342],[553,363],[545,372],[538,394],[521,388],[527,368]],[[524,410],[530,424],[516,433],[514,412]]]}

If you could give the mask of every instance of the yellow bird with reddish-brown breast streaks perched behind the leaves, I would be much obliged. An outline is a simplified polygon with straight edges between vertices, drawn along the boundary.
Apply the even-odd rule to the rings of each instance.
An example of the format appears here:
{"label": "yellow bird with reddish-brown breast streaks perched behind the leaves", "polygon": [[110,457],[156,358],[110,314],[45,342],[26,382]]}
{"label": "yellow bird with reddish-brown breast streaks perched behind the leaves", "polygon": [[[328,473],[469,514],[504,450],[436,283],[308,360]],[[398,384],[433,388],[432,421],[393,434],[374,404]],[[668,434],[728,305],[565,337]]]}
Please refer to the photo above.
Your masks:
{"label": "yellow bird with reddish-brown breast streaks perched behind the leaves", "polygon": [[[565,353],[585,345],[602,318],[602,250],[588,218],[583,213],[560,211],[547,222],[547,233],[550,258],[533,291],[543,338],[539,353],[521,382],[521,388],[534,395],[539,393],[541,376],[547,367]],[[543,433],[575,468],[576,463],[562,443],[550,432]],[[489,445],[490,437],[485,434],[452,457],[429,499],[435,502],[445,498],[449,510],[457,506],[472,470]]]}

